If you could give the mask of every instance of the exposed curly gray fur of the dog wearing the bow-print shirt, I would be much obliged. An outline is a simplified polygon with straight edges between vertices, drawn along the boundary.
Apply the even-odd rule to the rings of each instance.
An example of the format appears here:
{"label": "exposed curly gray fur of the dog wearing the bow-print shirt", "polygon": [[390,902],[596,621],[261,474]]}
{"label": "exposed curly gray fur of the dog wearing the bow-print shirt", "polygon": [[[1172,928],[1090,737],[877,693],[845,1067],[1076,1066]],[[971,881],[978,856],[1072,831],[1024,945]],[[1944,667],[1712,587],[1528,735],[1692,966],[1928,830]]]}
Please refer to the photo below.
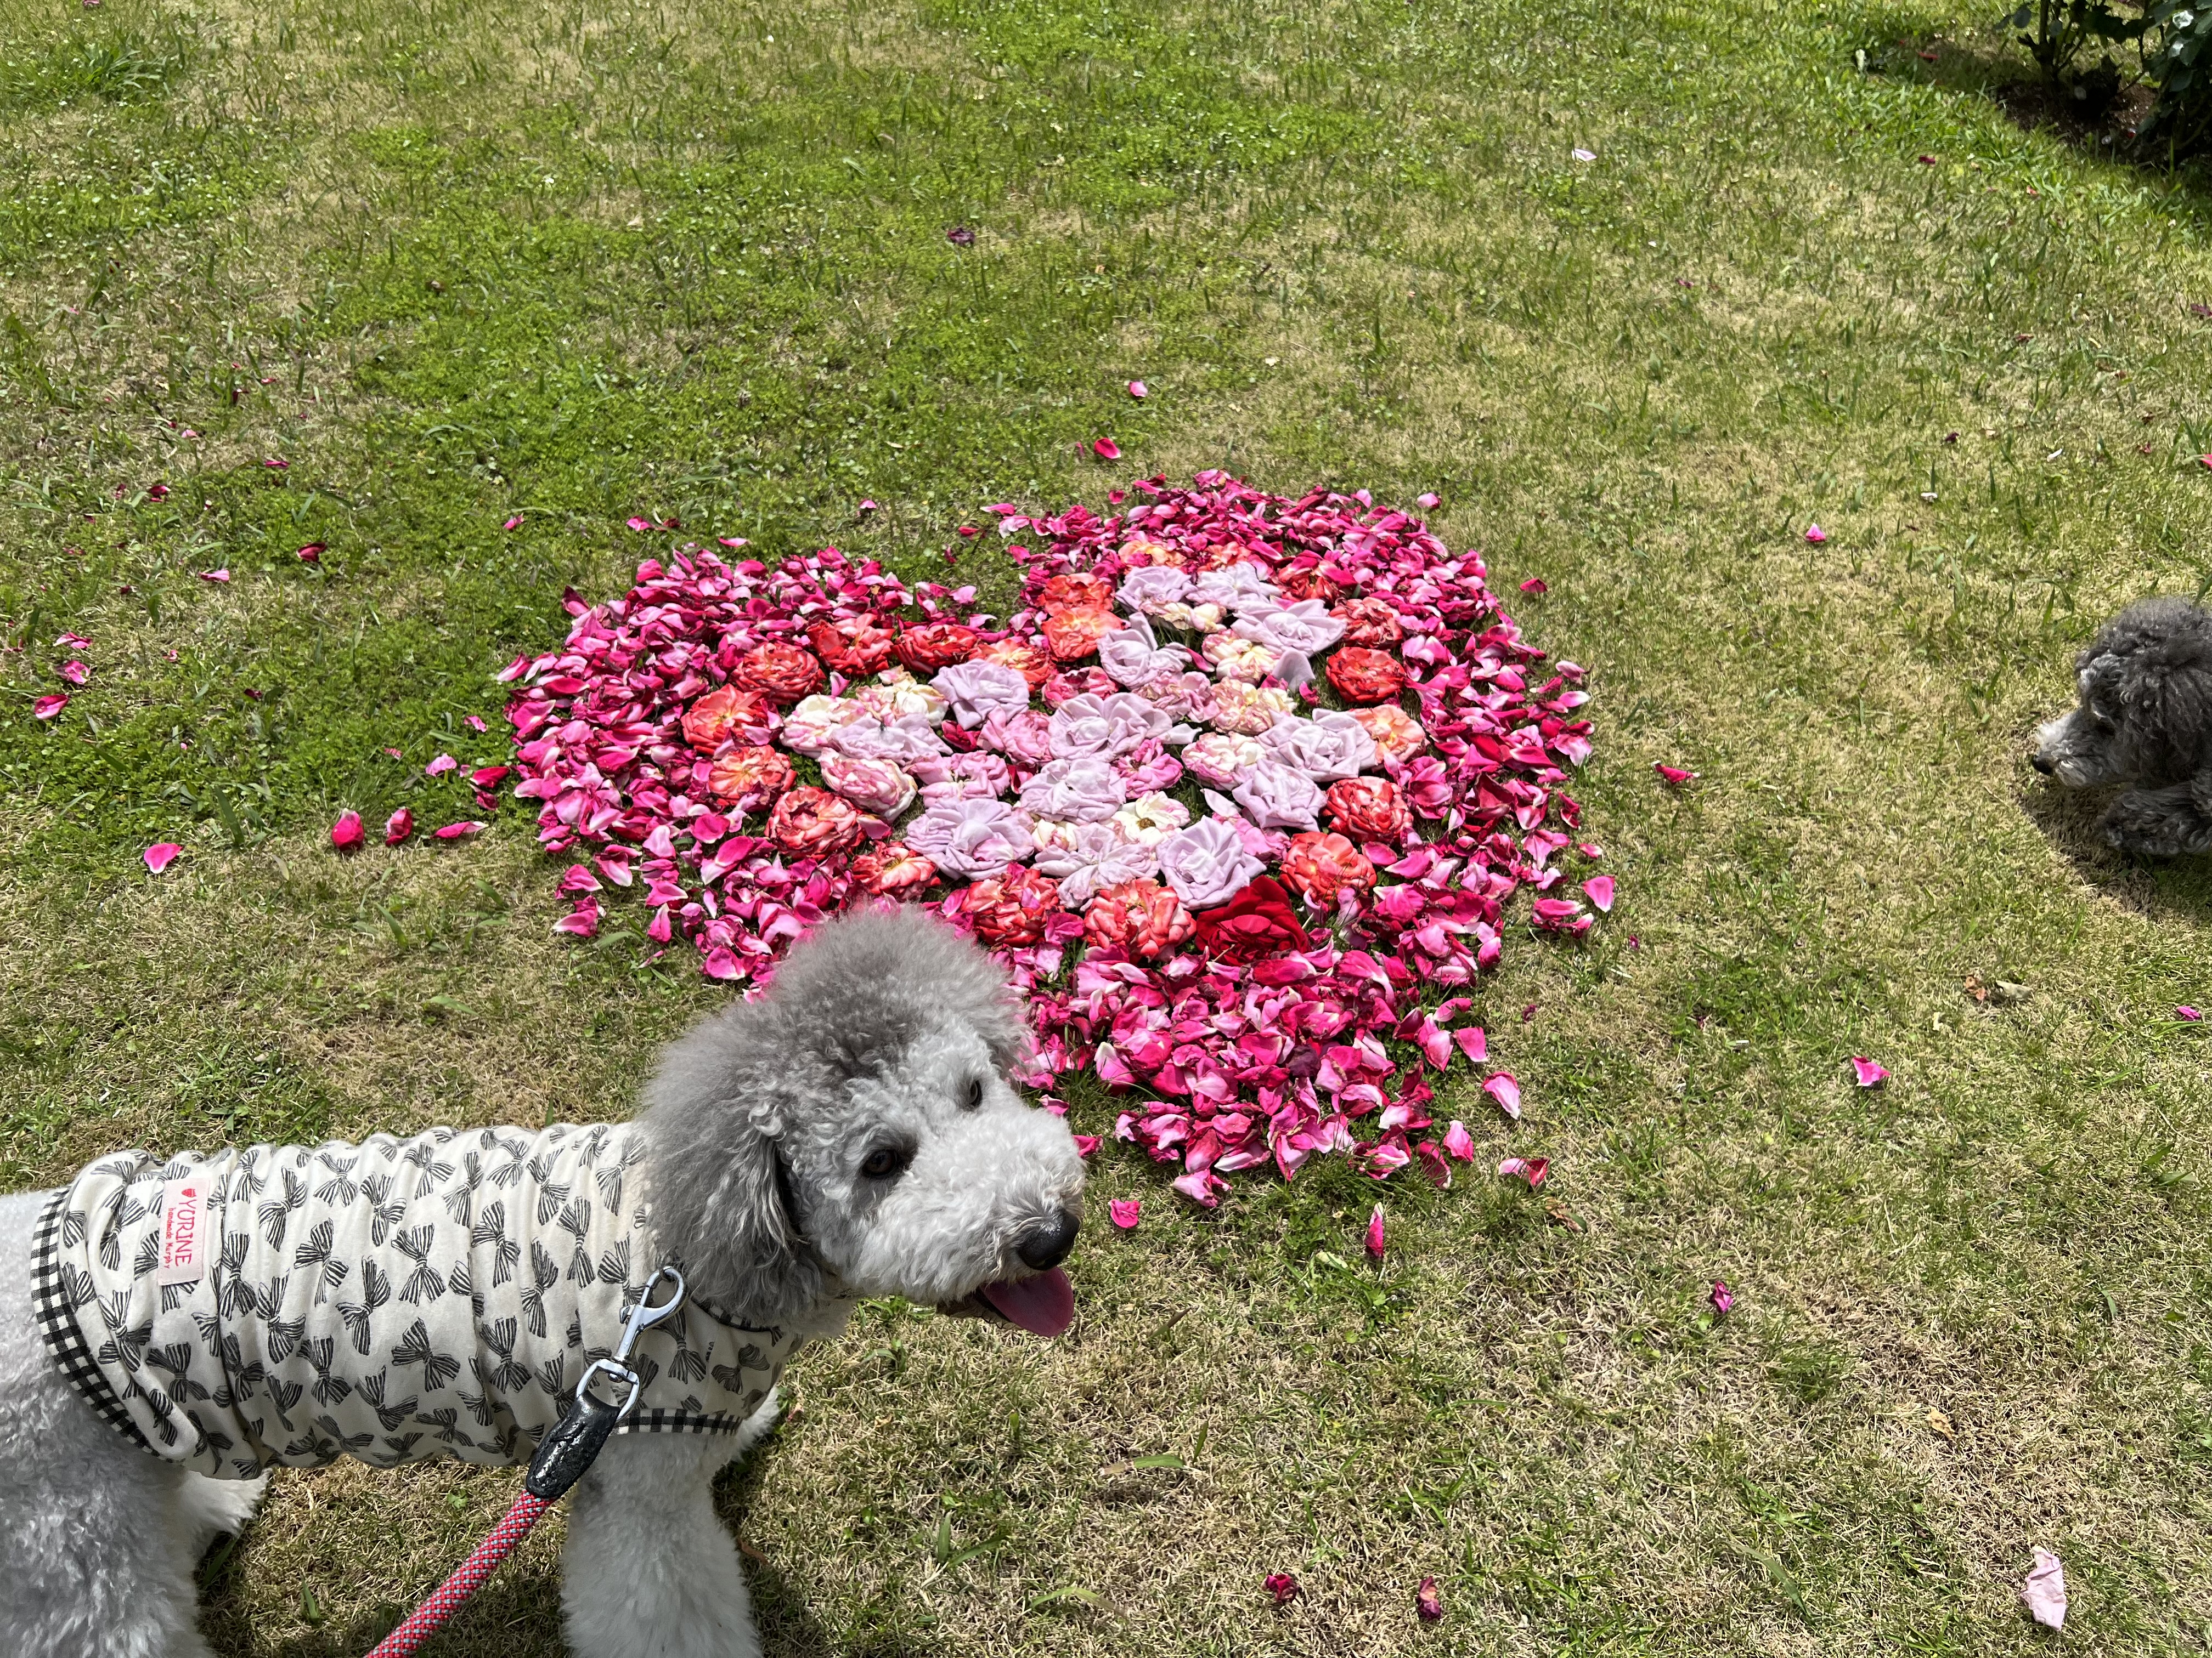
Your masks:
{"label": "exposed curly gray fur of the dog wearing the bow-print shirt", "polygon": [[[653,1227],[699,1293],[810,1335],[863,1295],[971,1307],[1075,1240],[1082,1158],[1004,1072],[1024,1041],[1004,975],[914,911],[830,922],[774,988],[661,1054],[639,1119]],[[872,1156],[876,1174],[863,1174]],[[896,1165],[883,1174],[885,1163]],[[208,1658],[192,1567],[261,1481],[161,1461],[102,1424],[38,1333],[31,1229],[0,1198],[0,1634],[15,1658]],[[765,1433],[624,1435],[575,1488],[562,1559],[580,1658],[752,1658],[717,1470]],[[425,1589],[429,1585],[422,1585]]]}

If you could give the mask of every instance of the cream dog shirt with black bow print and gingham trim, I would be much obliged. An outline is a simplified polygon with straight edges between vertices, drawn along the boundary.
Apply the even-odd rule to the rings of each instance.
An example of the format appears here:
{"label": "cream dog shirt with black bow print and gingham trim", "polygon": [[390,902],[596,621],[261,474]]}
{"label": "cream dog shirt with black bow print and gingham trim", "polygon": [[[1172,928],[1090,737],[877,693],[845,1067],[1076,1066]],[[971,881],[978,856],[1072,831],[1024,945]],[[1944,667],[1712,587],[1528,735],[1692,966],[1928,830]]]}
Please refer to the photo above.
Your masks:
{"label": "cream dog shirt with black bow print and gingham trim", "polygon": [[[100,1158],[40,1218],[40,1329],[102,1419],[204,1475],[522,1461],[664,1265],[641,1154],[602,1123]],[[639,1337],[622,1433],[737,1433],[799,1340],[692,1291]]]}

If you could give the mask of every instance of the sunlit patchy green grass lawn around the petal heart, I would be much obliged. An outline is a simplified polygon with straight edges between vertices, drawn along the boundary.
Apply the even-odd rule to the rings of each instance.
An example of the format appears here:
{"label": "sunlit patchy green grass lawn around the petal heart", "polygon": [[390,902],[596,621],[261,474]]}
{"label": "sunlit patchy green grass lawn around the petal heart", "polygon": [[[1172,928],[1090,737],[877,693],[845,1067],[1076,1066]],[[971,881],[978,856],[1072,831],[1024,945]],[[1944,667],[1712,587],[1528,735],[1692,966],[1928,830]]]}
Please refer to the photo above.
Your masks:
{"label": "sunlit patchy green grass lawn around the petal heart", "polygon": [[[1447,1112],[1557,1214],[1405,1178],[1338,1267],[1367,1180],[1108,1145],[1075,1335],[801,1362],[770,1651],[2008,1654],[2037,1543],[2068,1651],[2203,1651],[2212,882],[2024,736],[2212,584],[2212,199],[2015,124],[1986,11],[0,0],[0,1180],[630,1108],[688,955],[555,940],[513,805],[323,831],[473,816],[422,763],[633,515],[920,573],[1130,471],[1433,489],[1593,670],[1621,902],[1482,990],[1526,1119]],[[363,1651],[513,1486],[281,1479],[217,1651]],[[557,1654],[557,1543],[440,1651]]]}

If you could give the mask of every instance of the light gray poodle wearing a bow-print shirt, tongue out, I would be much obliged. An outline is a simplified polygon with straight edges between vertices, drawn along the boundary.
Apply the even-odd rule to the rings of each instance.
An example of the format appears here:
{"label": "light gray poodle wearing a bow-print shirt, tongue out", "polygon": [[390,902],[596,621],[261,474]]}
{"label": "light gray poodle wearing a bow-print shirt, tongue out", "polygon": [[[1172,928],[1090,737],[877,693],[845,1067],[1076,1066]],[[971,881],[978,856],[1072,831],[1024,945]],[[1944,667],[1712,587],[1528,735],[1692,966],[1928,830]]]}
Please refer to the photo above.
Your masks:
{"label": "light gray poodle wearing a bow-print shirt, tongue out", "polygon": [[865,913],[672,1043],[635,1123],[124,1154],[0,1198],[0,1649],[206,1658],[192,1567],[268,1468],[526,1463],[675,1262],[575,1488],[568,1645],[759,1654],[710,1483],[792,1349],[863,1295],[1075,1315],[1084,1172],[1004,1079],[1024,1037],[971,942]]}

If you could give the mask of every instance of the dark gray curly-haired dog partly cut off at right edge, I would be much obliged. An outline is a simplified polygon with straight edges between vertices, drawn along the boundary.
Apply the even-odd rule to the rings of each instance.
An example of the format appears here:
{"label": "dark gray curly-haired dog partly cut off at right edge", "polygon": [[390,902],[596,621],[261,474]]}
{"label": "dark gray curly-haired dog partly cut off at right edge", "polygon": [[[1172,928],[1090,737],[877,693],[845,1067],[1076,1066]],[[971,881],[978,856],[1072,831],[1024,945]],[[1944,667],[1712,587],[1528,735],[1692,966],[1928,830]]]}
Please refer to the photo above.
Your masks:
{"label": "dark gray curly-haired dog partly cut off at right edge", "polygon": [[2075,659],[2075,690],[2035,734],[2035,769],[2068,789],[2135,785],[2097,825],[2121,851],[2212,851],[2212,615],[2130,604]]}

